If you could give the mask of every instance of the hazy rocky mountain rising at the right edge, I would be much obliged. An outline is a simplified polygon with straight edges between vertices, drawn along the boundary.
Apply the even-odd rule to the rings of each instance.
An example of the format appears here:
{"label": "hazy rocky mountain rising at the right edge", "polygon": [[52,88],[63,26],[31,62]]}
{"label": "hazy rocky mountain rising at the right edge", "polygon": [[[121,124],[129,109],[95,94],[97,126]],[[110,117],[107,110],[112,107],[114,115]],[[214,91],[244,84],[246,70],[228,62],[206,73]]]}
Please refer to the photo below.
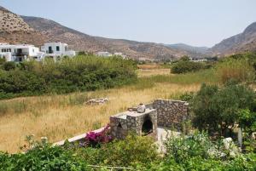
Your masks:
{"label": "hazy rocky mountain rising at the right edge", "polygon": [[256,22],[233,37],[224,39],[211,48],[214,54],[228,55],[246,51],[256,51]]}

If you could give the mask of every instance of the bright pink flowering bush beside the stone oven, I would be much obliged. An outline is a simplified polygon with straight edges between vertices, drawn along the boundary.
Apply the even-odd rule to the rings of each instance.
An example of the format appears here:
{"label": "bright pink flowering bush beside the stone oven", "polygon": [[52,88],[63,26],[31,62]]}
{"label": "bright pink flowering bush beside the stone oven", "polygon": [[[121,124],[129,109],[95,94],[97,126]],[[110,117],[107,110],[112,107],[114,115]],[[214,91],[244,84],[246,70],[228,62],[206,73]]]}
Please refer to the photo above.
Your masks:
{"label": "bright pink flowering bush beside the stone oven", "polygon": [[100,146],[101,144],[108,143],[112,140],[112,137],[109,135],[109,125],[102,129],[100,132],[90,132],[85,136],[86,145],[93,147]]}

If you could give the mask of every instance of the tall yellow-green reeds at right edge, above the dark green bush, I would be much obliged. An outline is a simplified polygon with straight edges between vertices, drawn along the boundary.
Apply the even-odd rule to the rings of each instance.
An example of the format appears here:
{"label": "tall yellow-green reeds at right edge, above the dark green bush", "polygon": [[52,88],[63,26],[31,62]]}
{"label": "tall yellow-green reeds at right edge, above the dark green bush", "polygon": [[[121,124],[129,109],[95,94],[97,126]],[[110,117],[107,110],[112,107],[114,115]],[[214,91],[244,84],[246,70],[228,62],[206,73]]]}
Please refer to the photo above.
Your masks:
{"label": "tall yellow-green reeds at right edge, above the dark green bush", "polygon": [[236,82],[252,82],[255,78],[255,70],[249,60],[245,58],[227,58],[216,66],[218,77],[223,83],[230,80]]}

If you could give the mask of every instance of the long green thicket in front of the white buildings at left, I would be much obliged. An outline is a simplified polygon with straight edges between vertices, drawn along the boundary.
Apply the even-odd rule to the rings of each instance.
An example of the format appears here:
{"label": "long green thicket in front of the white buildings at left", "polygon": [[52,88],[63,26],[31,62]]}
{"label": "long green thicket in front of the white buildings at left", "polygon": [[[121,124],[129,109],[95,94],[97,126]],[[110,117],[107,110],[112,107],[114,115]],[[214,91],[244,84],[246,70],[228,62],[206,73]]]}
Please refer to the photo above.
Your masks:
{"label": "long green thicket in front of the white buildings at left", "polygon": [[81,90],[113,88],[136,80],[136,66],[131,60],[118,57],[101,58],[80,55],[74,58],[43,62],[24,62],[11,70],[13,63],[7,65],[7,71],[0,70],[0,99],[6,97],[45,94],[70,93]]}

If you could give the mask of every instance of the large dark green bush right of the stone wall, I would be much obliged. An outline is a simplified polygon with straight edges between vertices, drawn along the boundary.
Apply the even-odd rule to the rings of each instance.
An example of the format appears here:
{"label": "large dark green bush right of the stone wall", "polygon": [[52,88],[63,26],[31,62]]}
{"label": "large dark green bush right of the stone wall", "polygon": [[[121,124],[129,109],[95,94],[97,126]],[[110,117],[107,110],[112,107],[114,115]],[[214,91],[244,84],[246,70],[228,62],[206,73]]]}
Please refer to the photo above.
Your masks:
{"label": "large dark green bush right of the stone wall", "polygon": [[250,113],[253,115],[256,106],[254,100],[254,91],[243,85],[230,83],[218,88],[203,84],[193,99],[193,123],[200,130],[231,136],[236,123],[242,122],[239,117],[242,109],[252,111]]}

